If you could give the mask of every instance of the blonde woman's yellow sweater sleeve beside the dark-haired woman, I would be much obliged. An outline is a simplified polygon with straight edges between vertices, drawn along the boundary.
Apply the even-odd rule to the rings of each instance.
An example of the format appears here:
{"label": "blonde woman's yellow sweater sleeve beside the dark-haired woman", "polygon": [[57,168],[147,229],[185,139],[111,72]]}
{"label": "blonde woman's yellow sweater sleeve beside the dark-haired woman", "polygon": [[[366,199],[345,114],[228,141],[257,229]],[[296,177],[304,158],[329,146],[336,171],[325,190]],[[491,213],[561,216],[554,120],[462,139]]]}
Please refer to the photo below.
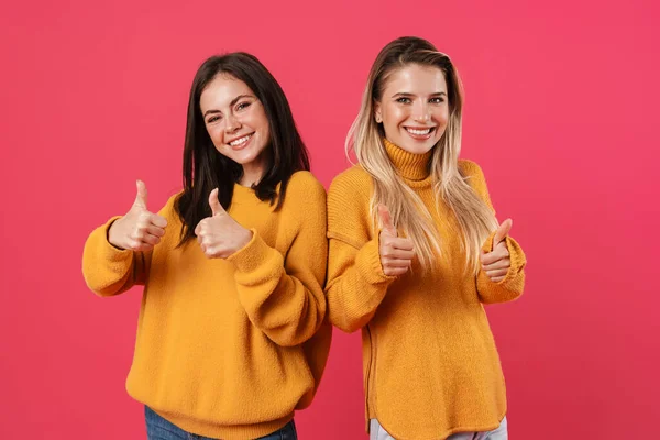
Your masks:
{"label": "blonde woman's yellow sweater sleeve beside the dark-haired woman", "polygon": [[370,233],[369,191],[354,175],[338,176],[328,194],[328,314],[345,332],[369,323],[396,279],[383,273],[378,233]]}

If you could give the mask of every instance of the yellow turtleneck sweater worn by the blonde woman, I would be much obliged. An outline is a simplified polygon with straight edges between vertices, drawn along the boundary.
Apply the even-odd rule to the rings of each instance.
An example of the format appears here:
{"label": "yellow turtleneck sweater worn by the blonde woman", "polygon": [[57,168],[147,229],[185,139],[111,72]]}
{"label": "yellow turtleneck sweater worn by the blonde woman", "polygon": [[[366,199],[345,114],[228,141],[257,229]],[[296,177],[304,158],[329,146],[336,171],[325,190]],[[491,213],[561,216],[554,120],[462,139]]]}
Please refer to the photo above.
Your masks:
{"label": "yellow turtleneck sweater worn by the blonde woman", "polygon": [[[385,143],[399,175],[432,215],[443,254],[429,273],[415,261],[402,277],[386,276],[380,231],[369,212],[371,177],[354,166],[334,178],[328,193],[328,312],[344,331],[362,328],[366,417],[377,418],[396,439],[495,429],[506,414],[506,392],[482,302],[522,293],[525,254],[506,239],[512,266],[497,284],[485,273],[475,279],[463,271],[455,216],[444,204],[435,207],[430,153],[415,155]],[[460,161],[460,168],[490,204],[481,168],[469,161]]]}

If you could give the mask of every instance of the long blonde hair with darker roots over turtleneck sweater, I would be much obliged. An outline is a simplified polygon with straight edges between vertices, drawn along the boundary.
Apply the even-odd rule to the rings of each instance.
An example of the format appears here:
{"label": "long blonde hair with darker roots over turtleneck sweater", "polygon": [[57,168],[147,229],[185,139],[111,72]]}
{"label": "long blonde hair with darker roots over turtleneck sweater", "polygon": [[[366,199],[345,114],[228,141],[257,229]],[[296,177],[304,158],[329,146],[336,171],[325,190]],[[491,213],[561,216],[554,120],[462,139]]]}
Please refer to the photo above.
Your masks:
{"label": "long blonde hair with darker roots over turtleneck sweater", "polygon": [[448,205],[461,228],[466,267],[476,273],[480,249],[497,228],[497,221],[459,169],[463,97],[459,74],[447,55],[428,41],[413,36],[387,44],[371,68],[360,113],[346,136],[346,154],[350,156],[351,150],[354,151],[360,165],[372,176],[371,213],[374,226],[380,221],[377,206],[383,204],[389,208],[397,229],[413,241],[422,268],[430,268],[441,254],[441,238],[421,198],[397,174],[383,145],[383,127],[374,118],[374,105],[381,100],[391,74],[410,64],[437,67],[444,74],[449,121],[433,146],[430,173],[437,202],[443,200]]}

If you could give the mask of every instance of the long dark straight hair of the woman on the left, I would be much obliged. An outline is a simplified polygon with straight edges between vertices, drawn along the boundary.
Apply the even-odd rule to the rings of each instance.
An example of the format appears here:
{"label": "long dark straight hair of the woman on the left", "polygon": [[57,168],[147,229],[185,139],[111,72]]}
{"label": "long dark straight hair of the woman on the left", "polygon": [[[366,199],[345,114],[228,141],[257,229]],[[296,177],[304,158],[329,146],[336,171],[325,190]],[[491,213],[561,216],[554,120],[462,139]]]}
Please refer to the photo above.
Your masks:
{"label": "long dark straight hair of the woman on the left", "polygon": [[[264,151],[266,163],[260,183],[253,186],[261,200],[268,200],[279,209],[286,196],[292,175],[309,170],[307,148],[298,133],[288,100],[268,69],[253,55],[235,52],[212,56],[197,70],[190,99],[184,146],[184,191],[175,202],[182,219],[179,245],[195,239],[195,228],[211,216],[209,194],[218,188],[218,199],[229,209],[234,184],[243,175],[240,164],[220,154],[207,132],[199,107],[201,92],[219,74],[230,75],[245,82],[261,101],[268,120],[271,139]],[[276,190],[279,184],[279,191]]]}

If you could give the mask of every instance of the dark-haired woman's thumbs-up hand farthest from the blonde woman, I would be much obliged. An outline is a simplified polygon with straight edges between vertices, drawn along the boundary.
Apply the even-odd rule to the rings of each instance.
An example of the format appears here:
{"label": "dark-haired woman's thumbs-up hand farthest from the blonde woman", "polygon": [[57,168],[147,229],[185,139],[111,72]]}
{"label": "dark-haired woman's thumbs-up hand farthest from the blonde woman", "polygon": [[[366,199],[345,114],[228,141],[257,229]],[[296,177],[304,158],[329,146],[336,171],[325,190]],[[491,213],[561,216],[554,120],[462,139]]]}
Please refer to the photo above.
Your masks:
{"label": "dark-haired woman's thumbs-up hand farthest from the blonde woman", "polygon": [[138,196],[133,206],[121,219],[112,223],[108,241],[116,248],[131,251],[148,251],[165,235],[167,220],[146,208],[146,186],[138,180]]}

